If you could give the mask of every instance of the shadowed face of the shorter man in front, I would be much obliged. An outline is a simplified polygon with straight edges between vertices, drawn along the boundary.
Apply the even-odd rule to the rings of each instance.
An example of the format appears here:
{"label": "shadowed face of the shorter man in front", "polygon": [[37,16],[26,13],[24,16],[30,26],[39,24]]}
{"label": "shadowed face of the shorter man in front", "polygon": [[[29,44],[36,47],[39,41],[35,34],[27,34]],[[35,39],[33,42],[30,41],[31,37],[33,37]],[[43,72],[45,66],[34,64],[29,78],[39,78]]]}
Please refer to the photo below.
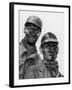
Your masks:
{"label": "shadowed face of the shorter man in front", "polygon": [[46,60],[54,61],[57,58],[58,46],[55,43],[45,43],[43,45],[43,56]]}

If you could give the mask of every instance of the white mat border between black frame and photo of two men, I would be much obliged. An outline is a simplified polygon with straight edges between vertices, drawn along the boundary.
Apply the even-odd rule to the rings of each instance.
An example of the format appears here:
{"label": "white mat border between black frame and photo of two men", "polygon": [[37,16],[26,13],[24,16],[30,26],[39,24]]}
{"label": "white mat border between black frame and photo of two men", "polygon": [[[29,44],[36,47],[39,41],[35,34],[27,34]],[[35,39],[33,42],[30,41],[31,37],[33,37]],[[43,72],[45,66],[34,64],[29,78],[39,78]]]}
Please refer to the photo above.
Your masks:
{"label": "white mat border between black frame and photo of two men", "polygon": [[[44,79],[24,79],[19,80],[19,28],[18,28],[18,10],[39,10],[39,11],[56,11],[64,12],[64,77],[63,78],[44,78]],[[68,82],[68,8],[58,7],[42,7],[42,6],[29,6],[29,5],[14,5],[14,85],[34,85],[34,84],[51,84]]]}

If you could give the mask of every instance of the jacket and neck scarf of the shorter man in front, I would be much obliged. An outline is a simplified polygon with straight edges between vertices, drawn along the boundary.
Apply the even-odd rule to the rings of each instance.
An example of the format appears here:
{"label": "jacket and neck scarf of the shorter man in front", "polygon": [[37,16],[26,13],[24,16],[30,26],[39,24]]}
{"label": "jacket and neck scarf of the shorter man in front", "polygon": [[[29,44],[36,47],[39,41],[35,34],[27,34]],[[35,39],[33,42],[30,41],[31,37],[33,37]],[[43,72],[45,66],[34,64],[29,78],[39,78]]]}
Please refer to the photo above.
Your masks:
{"label": "jacket and neck scarf of the shorter man in front", "polygon": [[63,77],[63,75],[59,72],[57,61],[48,63],[45,60],[39,60],[36,65],[32,65],[27,68],[24,75],[25,79],[55,77]]}

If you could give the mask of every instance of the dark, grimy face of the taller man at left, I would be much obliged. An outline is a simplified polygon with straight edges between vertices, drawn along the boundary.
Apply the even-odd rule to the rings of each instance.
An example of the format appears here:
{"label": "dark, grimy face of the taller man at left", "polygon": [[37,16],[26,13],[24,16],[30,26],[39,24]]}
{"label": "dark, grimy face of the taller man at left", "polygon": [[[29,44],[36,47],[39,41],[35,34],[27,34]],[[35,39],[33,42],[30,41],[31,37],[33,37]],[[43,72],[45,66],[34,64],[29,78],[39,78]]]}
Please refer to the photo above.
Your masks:
{"label": "dark, grimy face of the taller man at left", "polygon": [[27,26],[25,27],[25,34],[27,36],[27,40],[30,43],[36,43],[38,37],[40,36],[40,29],[35,26]]}

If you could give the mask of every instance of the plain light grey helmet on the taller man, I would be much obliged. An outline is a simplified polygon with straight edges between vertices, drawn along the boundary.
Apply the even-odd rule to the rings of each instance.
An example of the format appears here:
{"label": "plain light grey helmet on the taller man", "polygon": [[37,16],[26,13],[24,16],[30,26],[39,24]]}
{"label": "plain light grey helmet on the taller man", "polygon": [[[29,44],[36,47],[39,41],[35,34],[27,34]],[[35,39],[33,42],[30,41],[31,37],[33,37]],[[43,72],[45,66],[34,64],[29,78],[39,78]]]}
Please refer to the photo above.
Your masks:
{"label": "plain light grey helmet on the taller man", "polygon": [[37,27],[39,27],[40,29],[42,28],[42,21],[37,16],[29,16],[26,23],[25,23],[25,25],[27,23],[32,23],[32,24],[36,25]]}

